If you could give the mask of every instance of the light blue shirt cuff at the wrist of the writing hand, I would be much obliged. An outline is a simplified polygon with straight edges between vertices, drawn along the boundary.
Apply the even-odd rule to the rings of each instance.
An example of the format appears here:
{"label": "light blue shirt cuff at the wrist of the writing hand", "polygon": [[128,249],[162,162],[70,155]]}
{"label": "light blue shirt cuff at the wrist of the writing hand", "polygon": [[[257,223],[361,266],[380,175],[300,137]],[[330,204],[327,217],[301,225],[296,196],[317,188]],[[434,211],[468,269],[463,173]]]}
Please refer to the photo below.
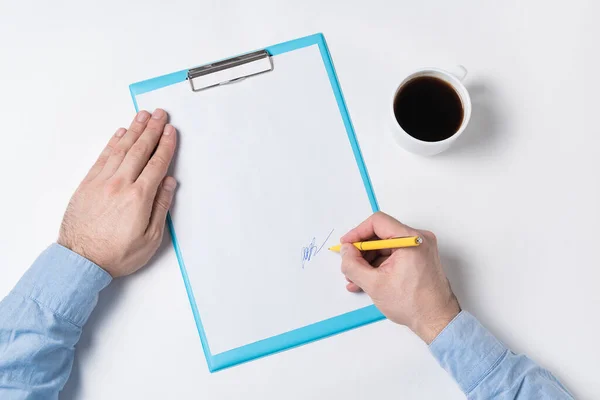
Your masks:
{"label": "light blue shirt cuff at the wrist of the writing hand", "polygon": [[429,350],[462,391],[469,394],[507,353],[479,321],[461,311],[429,345]]}

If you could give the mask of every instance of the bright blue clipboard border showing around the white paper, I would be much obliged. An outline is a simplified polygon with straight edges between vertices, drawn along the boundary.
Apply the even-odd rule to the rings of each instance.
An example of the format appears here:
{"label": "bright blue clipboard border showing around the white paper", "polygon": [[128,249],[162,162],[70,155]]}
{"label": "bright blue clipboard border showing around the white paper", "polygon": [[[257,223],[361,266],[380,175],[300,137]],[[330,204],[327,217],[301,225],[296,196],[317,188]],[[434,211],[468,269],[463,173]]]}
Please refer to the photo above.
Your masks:
{"label": "bright blue clipboard border showing around the white paper", "polygon": [[[363,184],[365,185],[365,190],[367,191],[367,195],[369,197],[371,208],[373,212],[378,211],[379,205],[377,203],[375,193],[373,192],[371,179],[369,178],[369,174],[367,172],[367,168],[365,166],[362,153],[360,151],[360,146],[358,145],[358,140],[356,139],[354,127],[352,125],[352,121],[350,120],[350,115],[346,107],[346,102],[342,94],[342,89],[340,88],[337,74],[335,72],[335,68],[331,60],[331,55],[329,53],[329,49],[327,48],[327,43],[323,34],[317,33],[303,38],[291,40],[289,42],[276,44],[267,47],[266,50],[269,52],[269,54],[275,56],[278,54],[283,54],[288,51],[297,50],[315,44],[319,46],[319,51],[321,53],[321,57],[323,58],[323,63],[325,65],[325,69],[327,70],[327,75],[329,76],[331,88],[335,95],[335,99],[338,104],[338,108],[340,110],[340,114],[342,116],[346,132],[348,134],[348,139],[352,146],[352,151],[354,153],[354,157],[356,159],[356,163],[360,171]],[[129,86],[129,91],[131,93],[131,98],[133,99],[135,110],[139,111],[138,104],[135,98],[136,95],[157,90],[165,86],[173,85],[175,83],[183,82],[187,78],[187,71],[188,70],[185,69],[173,72],[171,74],[131,84]],[[336,335],[349,329],[363,326],[385,318],[385,316],[381,314],[381,312],[374,305],[371,305],[342,315],[338,315],[336,317],[326,319],[324,321],[319,321],[302,328],[285,332],[277,336],[259,340],[248,345],[244,345],[232,350],[225,351],[223,353],[213,355],[210,351],[208,340],[206,338],[206,333],[202,325],[202,320],[200,318],[200,314],[196,306],[196,300],[194,298],[192,286],[188,279],[187,270],[185,268],[181,249],[177,241],[175,227],[173,226],[173,220],[171,219],[170,215],[167,215],[167,225],[169,227],[169,232],[173,241],[173,247],[175,249],[175,254],[179,262],[179,268],[181,270],[181,276],[183,278],[183,282],[188,294],[188,299],[190,301],[190,306],[192,308],[194,320],[196,321],[196,327],[198,329],[200,341],[202,342],[202,349],[204,351],[204,356],[206,357],[208,369],[210,372],[216,372],[221,369],[241,364],[256,358],[265,357],[274,353],[279,353],[281,351],[285,351],[293,347],[310,343],[315,340],[323,339],[328,336]]]}

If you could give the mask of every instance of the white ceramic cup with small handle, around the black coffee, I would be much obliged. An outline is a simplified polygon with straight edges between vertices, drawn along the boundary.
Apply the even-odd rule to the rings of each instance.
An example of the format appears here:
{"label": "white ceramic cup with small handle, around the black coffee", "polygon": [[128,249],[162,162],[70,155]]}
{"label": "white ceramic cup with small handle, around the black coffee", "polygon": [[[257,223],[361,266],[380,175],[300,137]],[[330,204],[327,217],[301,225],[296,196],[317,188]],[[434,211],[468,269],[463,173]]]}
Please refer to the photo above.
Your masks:
{"label": "white ceramic cup with small handle, around the black coffee", "polygon": [[[462,81],[467,76],[467,69],[462,65],[457,66],[456,72],[448,72],[439,68],[424,68],[418,71],[413,72],[408,75],[401,83],[398,85],[396,90],[394,91],[394,96],[392,97],[392,101],[390,102],[390,115],[389,118],[391,121],[389,123],[390,130],[392,136],[396,140],[396,142],[402,146],[404,149],[410,151],[411,153],[420,154],[423,156],[432,156],[442,151],[448,149],[452,143],[458,139],[458,137],[463,133],[467,124],[469,123],[469,119],[471,119],[471,98],[469,97],[469,92],[465,85],[463,85]],[[402,90],[402,88],[411,80],[420,77],[434,77],[443,80],[448,83],[458,94],[460,101],[462,102],[463,107],[463,120],[456,131],[452,136],[447,139],[440,140],[438,142],[426,142],[424,140],[419,140],[402,129],[398,121],[396,120],[396,115],[394,113],[394,100],[398,93]]]}

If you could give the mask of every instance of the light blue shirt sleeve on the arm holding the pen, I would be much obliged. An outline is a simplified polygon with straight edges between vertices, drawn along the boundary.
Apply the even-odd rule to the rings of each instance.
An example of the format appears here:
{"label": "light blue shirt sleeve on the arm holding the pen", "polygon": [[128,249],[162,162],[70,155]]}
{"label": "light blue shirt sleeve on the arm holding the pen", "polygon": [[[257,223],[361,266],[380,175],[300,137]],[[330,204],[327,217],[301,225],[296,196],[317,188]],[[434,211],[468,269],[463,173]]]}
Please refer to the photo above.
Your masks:
{"label": "light blue shirt sleeve on the arm holding the pen", "polygon": [[468,399],[573,399],[550,372],[512,353],[466,311],[429,349]]}

